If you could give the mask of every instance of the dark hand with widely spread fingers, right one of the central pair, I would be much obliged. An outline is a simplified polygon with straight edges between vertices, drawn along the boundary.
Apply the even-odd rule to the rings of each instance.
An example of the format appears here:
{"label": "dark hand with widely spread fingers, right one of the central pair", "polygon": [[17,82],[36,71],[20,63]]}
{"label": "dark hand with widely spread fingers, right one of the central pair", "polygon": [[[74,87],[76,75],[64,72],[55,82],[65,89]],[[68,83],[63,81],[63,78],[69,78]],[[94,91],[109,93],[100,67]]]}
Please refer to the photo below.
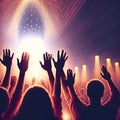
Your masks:
{"label": "dark hand with widely spread fingers, right one of the central pair", "polygon": [[61,55],[60,55],[60,51],[58,51],[57,53],[57,61],[55,61],[55,59],[53,58],[53,62],[55,65],[55,68],[57,70],[62,70],[65,64],[65,61],[68,59],[68,56],[66,56],[66,52],[64,52],[64,50],[62,50]]}

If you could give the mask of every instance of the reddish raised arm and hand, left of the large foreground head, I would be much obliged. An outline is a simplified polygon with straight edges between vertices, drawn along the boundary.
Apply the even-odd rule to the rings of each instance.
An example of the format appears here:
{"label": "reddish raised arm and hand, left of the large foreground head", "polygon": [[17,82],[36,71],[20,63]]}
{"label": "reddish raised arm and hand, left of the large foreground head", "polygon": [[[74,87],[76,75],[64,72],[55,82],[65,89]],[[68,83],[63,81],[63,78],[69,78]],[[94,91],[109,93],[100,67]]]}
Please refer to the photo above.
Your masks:
{"label": "reddish raised arm and hand, left of the large foreground head", "polygon": [[15,88],[15,92],[10,101],[10,105],[4,115],[6,120],[10,120],[13,115],[16,113],[16,110],[20,104],[21,98],[23,96],[23,85],[24,85],[24,77],[25,73],[28,69],[29,63],[29,54],[27,52],[22,53],[21,61],[17,58],[17,66],[19,68],[19,78],[17,82],[17,86]]}

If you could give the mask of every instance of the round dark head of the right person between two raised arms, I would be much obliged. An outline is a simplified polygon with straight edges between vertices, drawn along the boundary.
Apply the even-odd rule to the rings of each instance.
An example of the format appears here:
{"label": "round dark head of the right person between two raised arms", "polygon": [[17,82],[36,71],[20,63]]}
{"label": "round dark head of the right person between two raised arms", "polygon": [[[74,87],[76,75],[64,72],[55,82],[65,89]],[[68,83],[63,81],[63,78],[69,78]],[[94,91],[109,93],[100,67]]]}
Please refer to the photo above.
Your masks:
{"label": "round dark head of the right person between two raised arms", "polygon": [[104,85],[98,80],[93,80],[87,85],[87,95],[92,104],[100,103],[104,94]]}

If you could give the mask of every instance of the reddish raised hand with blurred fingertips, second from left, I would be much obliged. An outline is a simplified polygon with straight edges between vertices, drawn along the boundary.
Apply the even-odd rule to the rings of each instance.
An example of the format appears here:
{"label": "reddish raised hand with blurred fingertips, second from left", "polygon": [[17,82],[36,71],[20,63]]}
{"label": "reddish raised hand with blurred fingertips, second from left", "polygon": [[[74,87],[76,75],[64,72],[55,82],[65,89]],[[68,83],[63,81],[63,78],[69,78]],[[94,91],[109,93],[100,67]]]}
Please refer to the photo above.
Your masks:
{"label": "reddish raised hand with blurred fingertips, second from left", "polygon": [[17,65],[20,71],[26,72],[28,69],[28,63],[29,63],[29,54],[27,52],[22,53],[21,62],[17,58]]}

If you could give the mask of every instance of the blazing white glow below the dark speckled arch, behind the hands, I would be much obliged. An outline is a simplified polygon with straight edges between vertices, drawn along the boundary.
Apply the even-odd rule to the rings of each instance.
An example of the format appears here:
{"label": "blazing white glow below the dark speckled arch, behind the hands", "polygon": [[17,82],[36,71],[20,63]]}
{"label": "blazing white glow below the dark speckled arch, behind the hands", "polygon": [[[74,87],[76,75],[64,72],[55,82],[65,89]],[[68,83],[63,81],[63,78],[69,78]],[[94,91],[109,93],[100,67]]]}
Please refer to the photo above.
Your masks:
{"label": "blazing white glow below the dark speckled arch, behind the hands", "polygon": [[[42,56],[45,52],[45,47],[43,40],[41,38],[37,38],[35,36],[24,38],[21,41],[21,44],[19,46],[19,49],[17,51],[17,55],[19,55],[18,58],[20,58],[22,52],[28,52],[30,54],[30,60],[29,60],[29,68],[28,68],[28,74],[29,76],[27,78],[33,78],[40,79],[44,76],[41,76],[39,71],[41,71],[41,67],[39,64],[40,60],[43,60]],[[42,74],[43,75],[43,74]]]}

